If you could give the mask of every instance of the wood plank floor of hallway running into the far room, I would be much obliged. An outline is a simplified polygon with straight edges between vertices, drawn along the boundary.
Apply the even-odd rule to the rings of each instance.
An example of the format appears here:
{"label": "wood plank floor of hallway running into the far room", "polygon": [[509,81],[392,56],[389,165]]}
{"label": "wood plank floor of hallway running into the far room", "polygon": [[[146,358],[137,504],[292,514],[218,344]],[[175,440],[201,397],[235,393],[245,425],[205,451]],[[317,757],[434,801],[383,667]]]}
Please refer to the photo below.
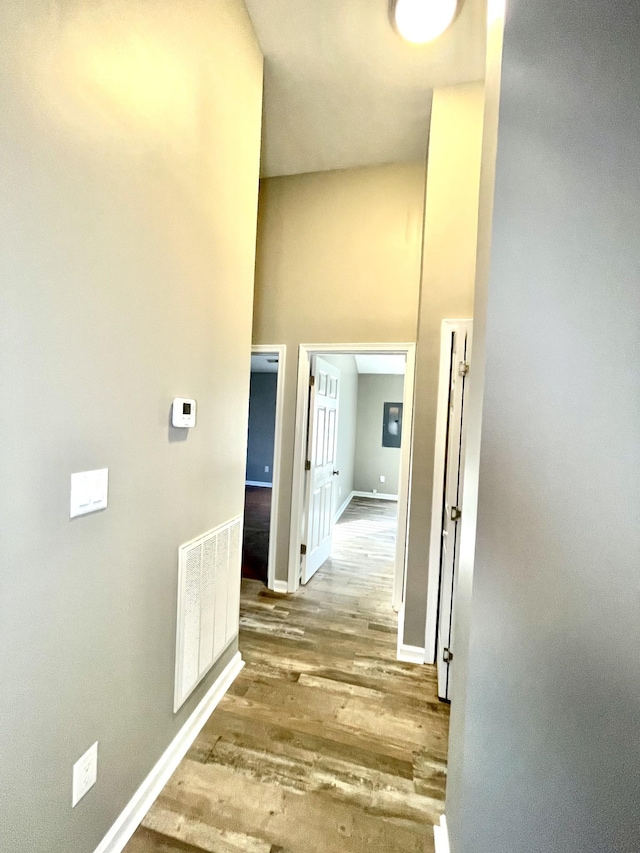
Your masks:
{"label": "wood plank floor of hallway running into the far room", "polygon": [[296,595],[243,581],[246,666],[126,853],[432,853],[449,709],[396,660],[395,511],[354,499]]}

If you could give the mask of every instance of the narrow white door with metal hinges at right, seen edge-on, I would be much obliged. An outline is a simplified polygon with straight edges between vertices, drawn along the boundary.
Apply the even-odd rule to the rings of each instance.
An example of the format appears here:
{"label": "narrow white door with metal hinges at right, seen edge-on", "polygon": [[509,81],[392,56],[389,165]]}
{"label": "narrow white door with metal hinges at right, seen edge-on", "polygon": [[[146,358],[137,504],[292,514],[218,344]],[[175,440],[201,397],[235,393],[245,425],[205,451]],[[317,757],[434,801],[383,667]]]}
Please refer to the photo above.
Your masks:
{"label": "narrow white door with metal hinges at right, seen edge-on", "polygon": [[451,334],[449,369],[449,414],[442,508],[442,545],[440,550],[440,603],[438,608],[438,695],[450,699],[450,675],[453,661],[453,610],[462,514],[462,476],[464,470],[464,395],[471,355],[471,332]]}

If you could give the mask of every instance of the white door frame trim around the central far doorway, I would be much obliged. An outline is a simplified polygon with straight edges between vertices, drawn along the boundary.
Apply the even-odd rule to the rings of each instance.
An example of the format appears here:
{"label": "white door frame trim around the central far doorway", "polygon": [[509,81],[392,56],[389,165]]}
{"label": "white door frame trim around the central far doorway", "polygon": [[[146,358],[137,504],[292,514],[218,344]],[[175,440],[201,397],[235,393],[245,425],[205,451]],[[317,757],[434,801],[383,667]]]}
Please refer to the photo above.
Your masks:
{"label": "white door frame trim around the central far doorway", "polygon": [[291,526],[289,529],[289,566],[287,589],[296,592],[300,586],[300,546],[302,544],[304,511],[304,463],[309,419],[309,373],[312,355],[359,355],[379,353],[406,356],[403,393],[403,441],[400,451],[398,480],[398,526],[393,583],[393,608],[400,610],[404,596],[407,571],[407,527],[409,515],[409,484],[411,481],[411,452],[413,448],[413,397],[416,363],[415,343],[344,343],[300,344],[298,347],[298,380],[293,448],[293,478],[291,483]]}

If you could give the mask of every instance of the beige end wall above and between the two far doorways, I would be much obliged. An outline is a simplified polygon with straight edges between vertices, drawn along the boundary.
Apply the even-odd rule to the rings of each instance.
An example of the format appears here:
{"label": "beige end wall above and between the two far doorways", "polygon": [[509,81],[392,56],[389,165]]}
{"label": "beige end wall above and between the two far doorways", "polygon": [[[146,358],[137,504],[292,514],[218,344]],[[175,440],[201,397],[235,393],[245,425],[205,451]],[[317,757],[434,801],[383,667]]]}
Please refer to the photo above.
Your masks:
{"label": "beige end wall above and between the two far doorways", "polygon": [[289,558],[298,346],[415,341],[424,181],[423,163],[395,163],[260,182],[253,343],[283,343],[290,354],[279,580]]}

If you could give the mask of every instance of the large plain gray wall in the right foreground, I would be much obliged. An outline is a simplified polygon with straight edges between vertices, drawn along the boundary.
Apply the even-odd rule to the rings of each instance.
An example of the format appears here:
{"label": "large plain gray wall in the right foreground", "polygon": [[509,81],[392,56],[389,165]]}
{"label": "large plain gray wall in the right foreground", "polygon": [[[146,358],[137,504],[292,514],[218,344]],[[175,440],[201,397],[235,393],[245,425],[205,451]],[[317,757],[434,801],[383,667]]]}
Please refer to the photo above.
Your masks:
{"label": "large plain gray wall in the right foreground", "polygon": [[509,5],[453,853],[640,848],[639,42]]}

